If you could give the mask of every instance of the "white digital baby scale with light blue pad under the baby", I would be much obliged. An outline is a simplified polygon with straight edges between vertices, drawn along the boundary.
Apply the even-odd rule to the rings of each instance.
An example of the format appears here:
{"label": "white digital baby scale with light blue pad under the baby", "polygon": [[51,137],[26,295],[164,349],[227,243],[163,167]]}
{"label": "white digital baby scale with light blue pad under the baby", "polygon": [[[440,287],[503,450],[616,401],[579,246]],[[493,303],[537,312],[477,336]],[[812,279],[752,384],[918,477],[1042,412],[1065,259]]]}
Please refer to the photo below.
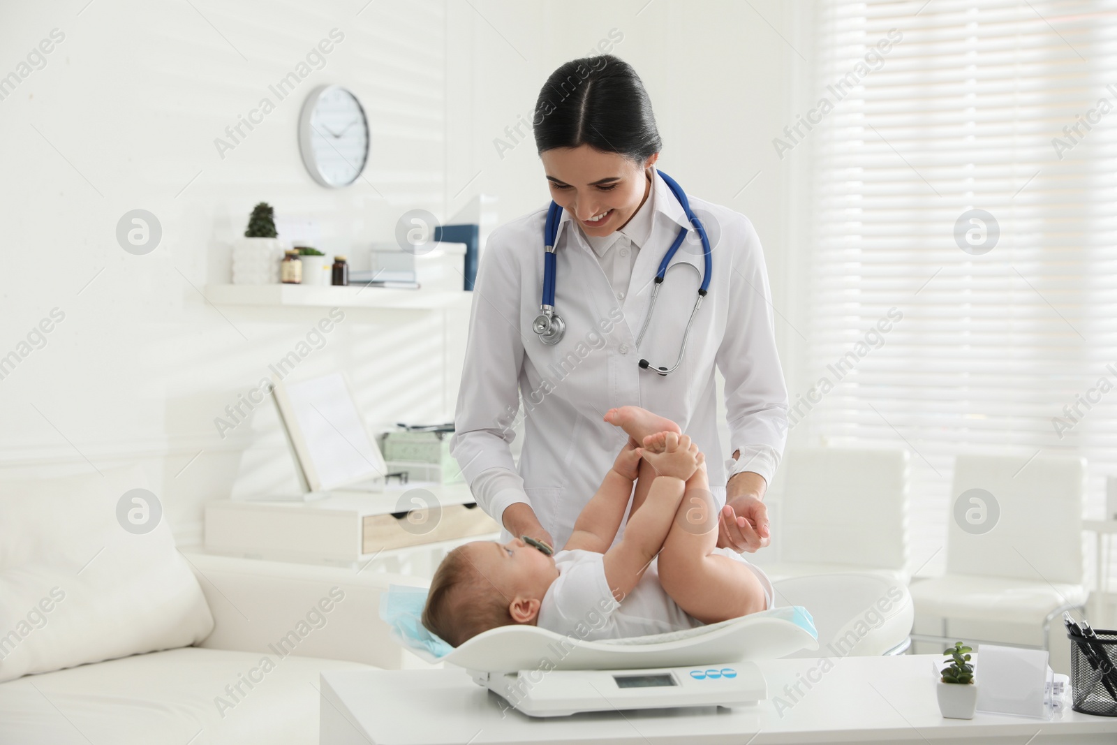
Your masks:
{"label": "white digital baby scale with light blue pad under the baby", "polygon": [[423,627],[426,588],[390,585],[380,617],[421,659],[465,668],[528,716],[677,706],[748,706],[767,698],[754,660],[819,648],[805,608],[785,605],[696,629],[586,641],[531,624],[479,633],[455,648]]}

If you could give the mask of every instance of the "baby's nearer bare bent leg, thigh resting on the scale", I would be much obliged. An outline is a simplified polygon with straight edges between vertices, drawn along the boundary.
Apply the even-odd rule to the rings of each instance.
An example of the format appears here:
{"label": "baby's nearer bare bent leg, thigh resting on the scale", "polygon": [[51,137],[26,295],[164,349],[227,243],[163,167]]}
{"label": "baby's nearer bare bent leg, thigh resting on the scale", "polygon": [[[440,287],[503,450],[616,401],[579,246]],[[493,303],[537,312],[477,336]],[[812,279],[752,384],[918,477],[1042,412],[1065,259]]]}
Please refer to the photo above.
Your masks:
{"label": "baby's nearer bare bent leg, thigh resting on the scale", "polygon": [[706,465],[687,480],[686,493],[659,552],[659,581],[671,599],[703,623],[717,623],[764,610],[764,588],[743,563],[713,554],[718,506],[709,491]]}

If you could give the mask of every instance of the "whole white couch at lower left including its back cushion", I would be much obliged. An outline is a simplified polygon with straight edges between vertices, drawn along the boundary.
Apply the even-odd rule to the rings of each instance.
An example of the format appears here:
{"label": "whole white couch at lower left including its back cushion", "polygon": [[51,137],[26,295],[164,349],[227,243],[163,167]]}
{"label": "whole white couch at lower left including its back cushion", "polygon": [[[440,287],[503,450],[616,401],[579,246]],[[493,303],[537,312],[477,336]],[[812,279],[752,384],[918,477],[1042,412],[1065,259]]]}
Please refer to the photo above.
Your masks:
{"label": "whole white couch at lower left including its back cushion", "polygon": [[421,580],[132,535],[116,503],[137,479],[0,484],[3,745],[312,745],[321,672],[424,666],[378,614]]}

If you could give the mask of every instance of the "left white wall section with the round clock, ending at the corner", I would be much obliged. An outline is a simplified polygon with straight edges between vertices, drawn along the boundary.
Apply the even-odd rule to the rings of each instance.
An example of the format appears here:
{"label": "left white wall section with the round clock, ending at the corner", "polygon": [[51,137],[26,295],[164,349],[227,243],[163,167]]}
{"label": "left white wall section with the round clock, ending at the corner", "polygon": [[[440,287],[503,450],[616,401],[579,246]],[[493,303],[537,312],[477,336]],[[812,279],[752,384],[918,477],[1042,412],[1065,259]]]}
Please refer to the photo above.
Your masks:
{"label": "left white wall section with the round clock, ending at the corner", "polygon": [[[354,264],[391,239],[403,211],[445,212],[446,6],[378,1],[357,16],[363,2],[83,4],[0,11],[4,74],[51,29],[65,34],[0,101],[0,350],[51,308],[65,313],[0,381],[0,457],[30,474],[142,458],[180,539],[197,541],[206,499],[295,488],[268,407],[225,439],[213,419],[327,312],[216,308],[199,289],[229,281],[229,247],[260,200],[281,237]],[[268,86],[335,28],[344,39],[325,66],[278,101]],[[364,178],[344,190],[311,180],[296,141],[302,102],[325,83],[350,87],[372,130]],[[214,139],[265,96],[275,111],[221,157]],[[135,208],[162,223],[147,256],[115,239]],[[445,421],[456,392],[445,333],[440,312],[346,309],[297,374],[344,369],[376,428]]]}

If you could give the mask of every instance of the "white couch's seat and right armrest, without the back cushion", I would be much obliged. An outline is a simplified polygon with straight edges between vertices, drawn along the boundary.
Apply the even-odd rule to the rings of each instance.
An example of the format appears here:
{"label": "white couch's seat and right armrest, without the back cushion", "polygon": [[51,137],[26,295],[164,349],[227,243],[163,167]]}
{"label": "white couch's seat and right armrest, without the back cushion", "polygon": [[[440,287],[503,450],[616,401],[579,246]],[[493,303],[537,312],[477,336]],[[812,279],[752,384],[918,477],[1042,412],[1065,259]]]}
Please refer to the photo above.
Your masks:
{"label": "white couch's seat and right armrest, without the back cushion", "polygon": [[[414,577],[184,555],[213,614],[209,637],[0,684],[0,743],[312,745],[319,672],[423,665],[389,640],[376,613],[389,582]],[[334,588],[344,598],[322,614],[325,623],[308,623],[297,642],[288,637]],[[290,653],[280,657],[269,644],[284,638],[280,651]]]}

